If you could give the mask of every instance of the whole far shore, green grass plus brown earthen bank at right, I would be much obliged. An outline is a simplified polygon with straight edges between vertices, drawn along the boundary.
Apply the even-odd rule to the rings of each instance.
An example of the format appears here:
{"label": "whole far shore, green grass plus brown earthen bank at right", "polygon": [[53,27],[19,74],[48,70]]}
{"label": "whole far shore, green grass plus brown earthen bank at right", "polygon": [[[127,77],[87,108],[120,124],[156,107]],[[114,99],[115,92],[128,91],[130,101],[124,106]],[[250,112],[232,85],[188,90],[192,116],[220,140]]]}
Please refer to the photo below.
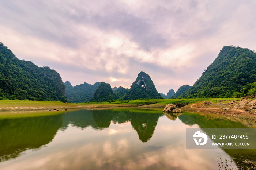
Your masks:
{"label": "whole far shore, green grass plus brown earthen bank at right", "polygon": [[[218,101],[219,100],[219,101]],[[152,101],[156,101],[154,104]],[[208,101],[208,102],[207,102]],[[232,104],[229,104],[233,101]],[[255,101],[255,102],[254,102]],[[213,103],[212,103],[213,102]],[[76,109],[88,109],[88,110],[105,110],[105,109],[121,109],[121,108],[137,108],[137,109],[153,109],[153,110],[163,110],[165,106],[169,103],[188,103],[183,107],[180,107],[182,111],[195,112],[195,113],[214,113],[218,115],[230,115],[236,116],[241,119],[256,122],[255,109],[249,110],[248,107],[233,109],[235,105],[247,104],[254,102],[253,107],[256,107],[256,99],[244,99],[242,101],[235,101],[234,98],[228,98],[224,100],[220,99],[153,99],[153,100],[132,100],[128,103],[123,103],[121,101],[109,103],[69,103],[65,104],[59,101],[0,101],[0,114],[18,114],[17,112],[26,111],[53,111],[58,109],[59,111],[76,110]],[[150,103],[150,104],[148,104]],[[208,105],[205,105],[210,103]],[[225,110],[224,108],[228,108]],[[12,112],[12,113],[11,113]]]}

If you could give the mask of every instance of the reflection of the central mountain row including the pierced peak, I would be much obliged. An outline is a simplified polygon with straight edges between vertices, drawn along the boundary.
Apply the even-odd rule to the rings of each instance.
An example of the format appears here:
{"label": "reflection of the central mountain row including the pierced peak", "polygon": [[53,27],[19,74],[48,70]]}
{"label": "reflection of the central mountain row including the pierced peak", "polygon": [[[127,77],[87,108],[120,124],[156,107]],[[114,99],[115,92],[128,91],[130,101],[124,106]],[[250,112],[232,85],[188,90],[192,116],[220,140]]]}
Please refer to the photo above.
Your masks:
{"label": "reflection of the central mountain row including the pierced peak", "polygon": [[71,111],[64,115],[62,129],[64,130],[69,124],[72,124],[82,129],[90,126],[96,130],[102,130],[108,128],[111,122],[122,124],[129,121],[132,128],[137,131],[139,139],[142,142],[147,142],[153,136],[162,112],[147,113],[150,111],[146,110],[144,112],[146,113],[138,113],[129,109]]}

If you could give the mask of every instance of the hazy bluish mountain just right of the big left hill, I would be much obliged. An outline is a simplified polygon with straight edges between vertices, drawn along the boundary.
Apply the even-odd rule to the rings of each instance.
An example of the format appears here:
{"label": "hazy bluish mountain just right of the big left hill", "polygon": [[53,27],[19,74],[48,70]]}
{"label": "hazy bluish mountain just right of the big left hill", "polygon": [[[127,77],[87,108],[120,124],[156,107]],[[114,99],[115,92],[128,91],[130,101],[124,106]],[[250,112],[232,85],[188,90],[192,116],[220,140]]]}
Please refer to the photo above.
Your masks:
{"label": "hazy bluish mountain just right of the big left hill", "polygon": [[98,88],[100,82],[96,82],[93,85],[84,83],[76,86],[72,86],[70,82],[66,81],[64,85],[66,86],[66,96],[71,103],[82,103],[91,101],[93,94]]}

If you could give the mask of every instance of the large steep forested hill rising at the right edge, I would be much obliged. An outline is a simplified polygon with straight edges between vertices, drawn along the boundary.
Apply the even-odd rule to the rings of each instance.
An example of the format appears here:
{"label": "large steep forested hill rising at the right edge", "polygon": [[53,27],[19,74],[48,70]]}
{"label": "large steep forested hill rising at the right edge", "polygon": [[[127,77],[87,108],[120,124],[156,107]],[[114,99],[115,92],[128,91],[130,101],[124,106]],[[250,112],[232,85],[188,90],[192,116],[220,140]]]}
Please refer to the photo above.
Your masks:
{"label": "large steep forested hill rising at the right edge", "polygon": [[180,97],[235,97],[256,80],[256,53],[246,48],[224,46],[214,62]]}

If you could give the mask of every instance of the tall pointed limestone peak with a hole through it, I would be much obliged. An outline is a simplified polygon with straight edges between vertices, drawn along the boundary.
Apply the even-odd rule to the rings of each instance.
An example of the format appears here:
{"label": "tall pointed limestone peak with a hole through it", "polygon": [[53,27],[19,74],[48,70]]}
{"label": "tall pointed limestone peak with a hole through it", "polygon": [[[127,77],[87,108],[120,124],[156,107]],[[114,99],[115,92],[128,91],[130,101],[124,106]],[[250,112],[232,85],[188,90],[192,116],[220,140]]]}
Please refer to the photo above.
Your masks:
{"label": "tall pointed limestone peak with a hole through it", "polygon": [[146,99],[146,98],[159,98],[161,95],[157,92],[153,81],[150,76],[145,72],[140,72],[132,83],[131,88],[124,95],[125,100],[129,99]]}

